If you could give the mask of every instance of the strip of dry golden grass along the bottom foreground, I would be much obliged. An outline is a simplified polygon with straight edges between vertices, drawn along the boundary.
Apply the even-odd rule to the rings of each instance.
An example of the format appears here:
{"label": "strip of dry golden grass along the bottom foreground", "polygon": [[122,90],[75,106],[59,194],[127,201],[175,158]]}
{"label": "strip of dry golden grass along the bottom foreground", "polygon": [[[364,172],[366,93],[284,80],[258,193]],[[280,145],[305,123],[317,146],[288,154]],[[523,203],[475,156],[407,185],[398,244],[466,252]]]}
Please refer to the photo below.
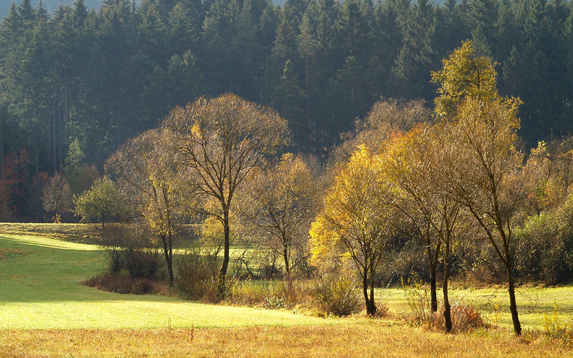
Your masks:
{"label": "strip of dry golden grass along the bottom foreground", "polygon": [[336,326],[0,332],[2,357],[573,357],[510,333],[446,335],[395,321]]}

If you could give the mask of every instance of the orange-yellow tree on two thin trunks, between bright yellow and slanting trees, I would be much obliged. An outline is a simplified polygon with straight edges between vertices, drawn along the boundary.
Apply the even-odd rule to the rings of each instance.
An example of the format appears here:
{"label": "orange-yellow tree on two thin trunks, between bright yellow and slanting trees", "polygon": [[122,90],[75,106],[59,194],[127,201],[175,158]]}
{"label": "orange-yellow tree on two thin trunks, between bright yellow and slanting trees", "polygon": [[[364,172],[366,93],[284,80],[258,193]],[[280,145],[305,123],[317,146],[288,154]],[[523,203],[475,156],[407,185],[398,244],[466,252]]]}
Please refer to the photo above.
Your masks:
{"label": "orange-yellow tree on two thin trunks, between bright yellow and slanting trees", "polygon": [[452,199],[439,176],[449,172],[448,130],[442,125],[419,124],[388,144],[386,178],[395,187],[394,205],[406,218],[409,237],[425,246],[430,266],[431,309],[437,311],[436,268],[444,262],[444,318],[446,331],[452,330],[448,280],[450,257],[461,204]]}

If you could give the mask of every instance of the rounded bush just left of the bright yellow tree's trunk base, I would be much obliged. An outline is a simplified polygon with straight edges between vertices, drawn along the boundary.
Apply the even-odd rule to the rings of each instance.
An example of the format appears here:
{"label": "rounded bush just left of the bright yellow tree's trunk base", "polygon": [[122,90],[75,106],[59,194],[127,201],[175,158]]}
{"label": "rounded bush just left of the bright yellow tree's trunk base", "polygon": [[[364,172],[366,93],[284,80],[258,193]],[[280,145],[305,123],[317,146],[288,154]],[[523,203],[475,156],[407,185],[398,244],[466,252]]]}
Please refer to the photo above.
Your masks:
{"label": "rounded bush just left of the bright yellow tree's trunk base", "polygon": [[340,274],[325,274],[317,278],[313,287],[313,297],[325,314],[349,316],[362,311],[362,294],[356,283]]}

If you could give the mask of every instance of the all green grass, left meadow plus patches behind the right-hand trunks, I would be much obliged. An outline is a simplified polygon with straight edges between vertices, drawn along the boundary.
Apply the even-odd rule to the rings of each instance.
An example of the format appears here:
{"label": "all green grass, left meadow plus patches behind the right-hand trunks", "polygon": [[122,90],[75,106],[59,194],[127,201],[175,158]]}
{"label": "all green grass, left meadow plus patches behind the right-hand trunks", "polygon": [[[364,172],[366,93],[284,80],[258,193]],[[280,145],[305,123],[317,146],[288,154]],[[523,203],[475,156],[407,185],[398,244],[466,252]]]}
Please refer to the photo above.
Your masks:
{"label": "all green grass, left meadow plus patches behind the right-hand trunks", "polygon": [[[39,225],[44,227],[42,230],[49,229],[46,225],[54,226]],[[83,227],[66,230],[77,230],[80,235]],[[344,321],[285,310],[209,305],[176,297],[115,294],[80,284],[101,272],[104,262],[97,245],[64,241],[57,235],[0,235],[0,329],[290,326]],[[396,317],[407,306],[399,288],[379,289],[378,300],[385,302]],[[457,300],[473,304],[489,321],[511,329],[503,287],[450,290],[450,302]],[[517,304],[523,327],[543,328],[544,313],[551,312],[555,303],[563,316],[573,314],[573,287],[520,288]],[[497,317],[493,314],[496,304]]]}

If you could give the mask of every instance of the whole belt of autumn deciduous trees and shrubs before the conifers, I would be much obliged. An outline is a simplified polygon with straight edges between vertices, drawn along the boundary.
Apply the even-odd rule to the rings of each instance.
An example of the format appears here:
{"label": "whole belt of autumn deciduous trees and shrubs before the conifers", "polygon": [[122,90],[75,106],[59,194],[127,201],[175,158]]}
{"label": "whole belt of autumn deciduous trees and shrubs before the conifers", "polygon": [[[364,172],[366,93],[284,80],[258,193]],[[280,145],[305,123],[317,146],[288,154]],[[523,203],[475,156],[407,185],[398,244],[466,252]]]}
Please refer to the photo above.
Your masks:
{"label": "whole belt of autumn deciduous trees and shrubs before the conifers", "polygon": [[[401,277],[429,283],[424,317],[452,331],[460,306],[450,305],[450,280],[497,282],[507,285],[519,335],[516,286],[569,282],[573,273],[573,141],[526,150],[517,133],[523,101],[500,95],[495,62],[478,50],[464,41],[430,73],[439,86],[433,111],[422,101],[377,101],[327,166],[278,155],[291,133],[268,107],[232,94],[176,107],[107,160],[109,178],[74,198],[82,221],[123,216],[131,231],[107,249],[109,270],[91,284],[129,292],[131,280],[164,280],[194,299],[274,307],[360,297],[375,316],[384,310],[375,288]],[[66,192],[53,185],[46,197]],[[196,246],[174,254],[190,222]],[[249,278],[282,278],[280,292],[240,282]],[[309,282],[321,289],[304,289]]]}

